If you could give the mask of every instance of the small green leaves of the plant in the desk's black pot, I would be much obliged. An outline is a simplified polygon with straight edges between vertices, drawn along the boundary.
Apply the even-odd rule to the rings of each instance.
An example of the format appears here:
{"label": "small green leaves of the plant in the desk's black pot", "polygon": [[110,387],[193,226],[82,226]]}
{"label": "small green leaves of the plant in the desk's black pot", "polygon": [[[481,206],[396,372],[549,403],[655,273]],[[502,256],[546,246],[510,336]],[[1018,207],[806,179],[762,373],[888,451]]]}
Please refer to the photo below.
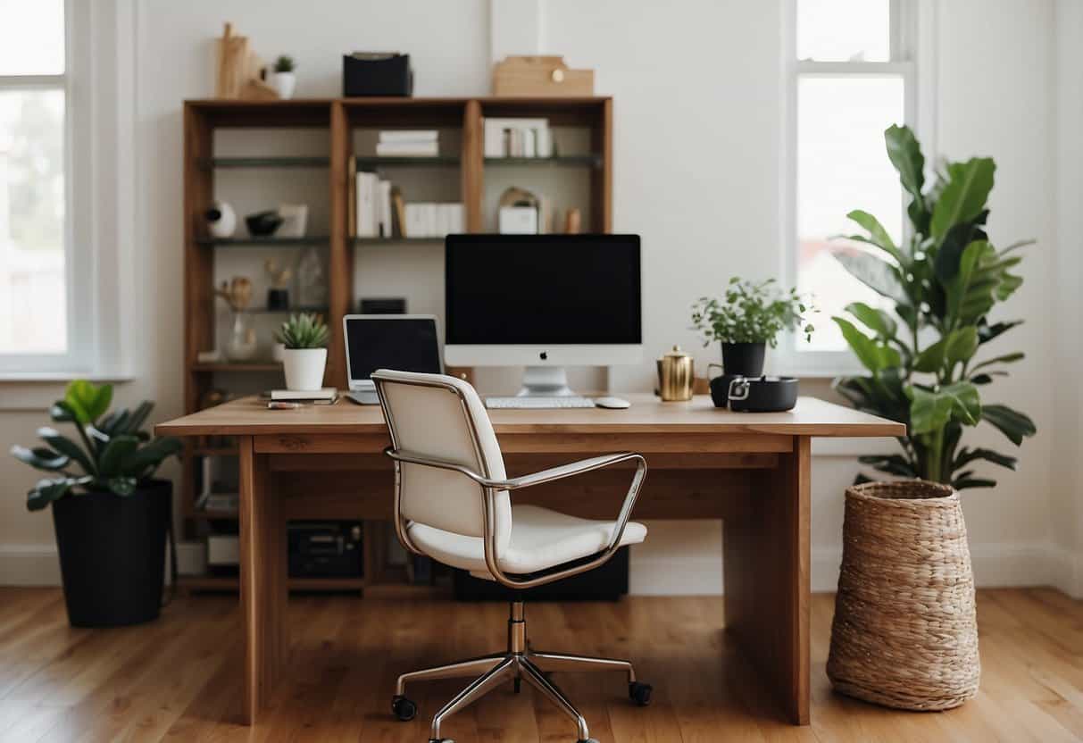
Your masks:
{"label": "small green leaves of the plant in the desk's black pot", "polygon": [[800,329],[806,340],[815,329],[805,320],[814,311],[797,289],[787,292],[775,281],[755,284],[734,276],[722,299],[702,297],[692,305],[692,328],[703,334],[703,344],[768,343],[774,348],[783,330]]}

